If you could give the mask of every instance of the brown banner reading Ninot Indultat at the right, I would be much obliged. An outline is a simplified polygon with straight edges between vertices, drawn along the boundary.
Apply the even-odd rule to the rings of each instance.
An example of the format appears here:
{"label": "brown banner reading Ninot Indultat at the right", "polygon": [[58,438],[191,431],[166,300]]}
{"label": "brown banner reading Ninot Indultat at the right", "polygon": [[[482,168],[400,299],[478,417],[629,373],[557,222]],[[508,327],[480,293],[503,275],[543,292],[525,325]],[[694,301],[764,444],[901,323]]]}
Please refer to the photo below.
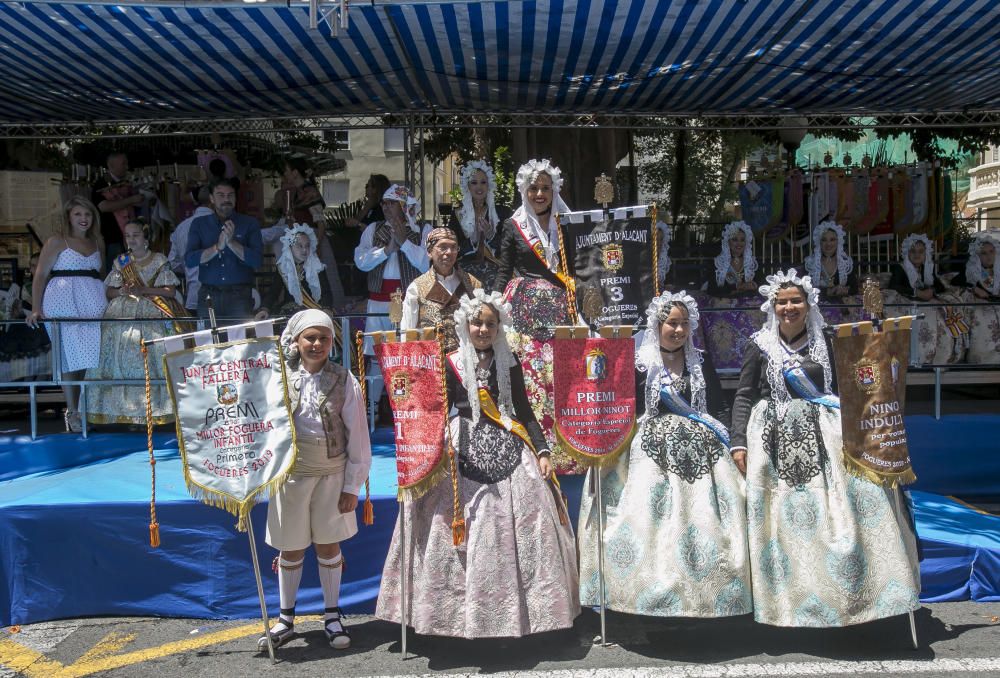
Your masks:
{"label": "brown banner reading Ninot Indultat at the right", "polygon": [[889,484],[912,483],[903,410],[912,316],[836,326],[833,352],[840,385],[844,464],[854,475]]}

